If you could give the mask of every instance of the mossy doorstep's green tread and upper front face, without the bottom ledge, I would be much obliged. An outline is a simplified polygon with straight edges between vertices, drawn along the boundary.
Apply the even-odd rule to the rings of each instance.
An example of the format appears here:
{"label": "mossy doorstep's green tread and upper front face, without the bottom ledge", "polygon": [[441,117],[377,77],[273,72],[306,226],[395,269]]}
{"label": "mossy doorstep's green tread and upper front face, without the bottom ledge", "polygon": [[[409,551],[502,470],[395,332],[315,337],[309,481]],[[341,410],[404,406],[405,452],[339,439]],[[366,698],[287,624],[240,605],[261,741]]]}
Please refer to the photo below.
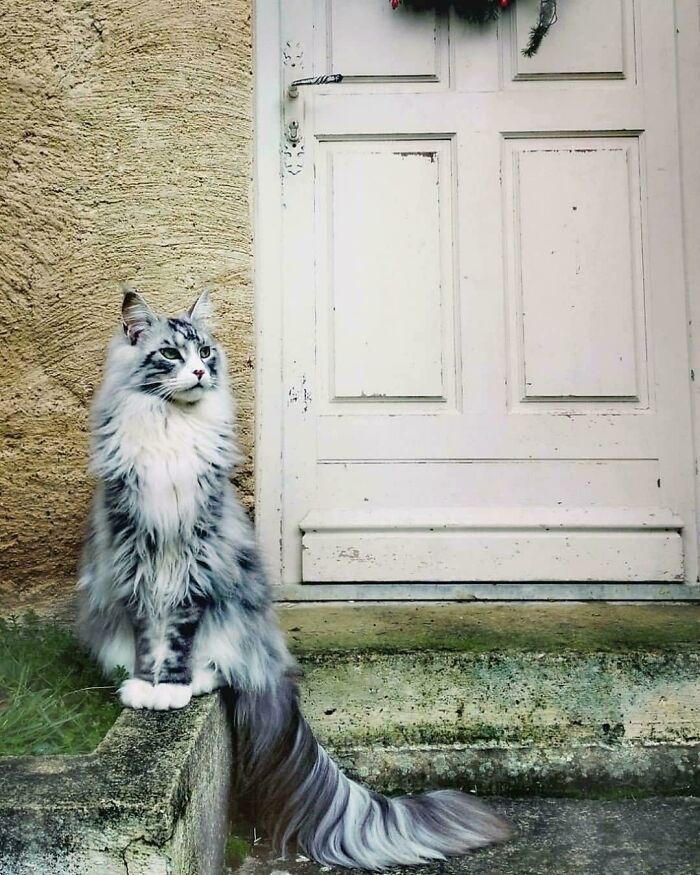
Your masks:
{"label": "mossy doorstep's green tread and upper front face, without the bottom ledge", "polygon": [[700,606],[302,605],[281,611],[335,749],[700,744]]}

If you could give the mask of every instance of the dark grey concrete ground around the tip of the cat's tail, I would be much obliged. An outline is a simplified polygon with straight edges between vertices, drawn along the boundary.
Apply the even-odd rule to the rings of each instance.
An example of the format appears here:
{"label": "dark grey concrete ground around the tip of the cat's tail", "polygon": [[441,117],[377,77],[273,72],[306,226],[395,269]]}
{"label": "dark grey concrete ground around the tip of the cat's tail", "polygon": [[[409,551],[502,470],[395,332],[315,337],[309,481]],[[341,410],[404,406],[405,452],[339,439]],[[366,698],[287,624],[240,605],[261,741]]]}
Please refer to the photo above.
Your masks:
{"label": "dark grey concrete ground around the tip of the cat's tail", "polygon": [[[513,827],[508,843],[446,863],[392,871],[405,875],[700,873],[700,799],[490,801]],[[263,842],[238,869],[239,875],[332,871],[299,857],[276,860]]]}

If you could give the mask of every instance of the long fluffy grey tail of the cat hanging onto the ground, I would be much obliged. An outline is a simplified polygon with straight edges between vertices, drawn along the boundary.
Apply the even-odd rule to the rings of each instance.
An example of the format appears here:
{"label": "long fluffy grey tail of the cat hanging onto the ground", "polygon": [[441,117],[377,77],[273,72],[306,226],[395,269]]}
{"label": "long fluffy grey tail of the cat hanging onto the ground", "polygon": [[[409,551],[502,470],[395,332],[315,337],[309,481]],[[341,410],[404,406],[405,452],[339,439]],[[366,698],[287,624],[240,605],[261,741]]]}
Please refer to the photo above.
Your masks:
{"label": "long fluffy grey tail of the cat hanging onto the ground", "polygon": [[284,854],[290,843],[329,866],[380,870],[459,856],[507,838],[503,821],[454,790],[387,799],[347,778],[299,710],[296,685],[235,704],[239,792]]}

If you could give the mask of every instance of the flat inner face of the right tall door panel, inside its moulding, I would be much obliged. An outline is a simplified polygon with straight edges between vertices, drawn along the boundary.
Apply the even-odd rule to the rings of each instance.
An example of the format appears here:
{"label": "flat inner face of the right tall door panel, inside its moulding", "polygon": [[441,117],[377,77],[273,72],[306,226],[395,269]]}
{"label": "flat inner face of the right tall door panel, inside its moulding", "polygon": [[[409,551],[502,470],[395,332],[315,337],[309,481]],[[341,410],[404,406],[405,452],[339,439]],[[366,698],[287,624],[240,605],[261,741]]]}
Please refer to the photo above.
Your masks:
{"label": "flat inner face of the right tall door panel, inside its moulding", "polygon": [[646,369],[639,138],[528,137],[508,145],[523,399],[639,400],[640,376],[646,384],[646,370],[637,374],[638,359]]}

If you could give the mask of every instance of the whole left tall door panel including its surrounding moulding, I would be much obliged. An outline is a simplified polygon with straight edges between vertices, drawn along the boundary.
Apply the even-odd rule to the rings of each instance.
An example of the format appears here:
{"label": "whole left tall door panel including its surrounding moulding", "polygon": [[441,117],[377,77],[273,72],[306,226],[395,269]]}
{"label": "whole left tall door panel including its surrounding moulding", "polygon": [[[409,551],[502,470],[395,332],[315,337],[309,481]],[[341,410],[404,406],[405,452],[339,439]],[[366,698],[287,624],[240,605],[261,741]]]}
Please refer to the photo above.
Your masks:
{"label": "whole left tall door panel including its surrounding moulding", "polygon": [[319,414],[455,408],[454,164],[445,138],[319,142]]}

